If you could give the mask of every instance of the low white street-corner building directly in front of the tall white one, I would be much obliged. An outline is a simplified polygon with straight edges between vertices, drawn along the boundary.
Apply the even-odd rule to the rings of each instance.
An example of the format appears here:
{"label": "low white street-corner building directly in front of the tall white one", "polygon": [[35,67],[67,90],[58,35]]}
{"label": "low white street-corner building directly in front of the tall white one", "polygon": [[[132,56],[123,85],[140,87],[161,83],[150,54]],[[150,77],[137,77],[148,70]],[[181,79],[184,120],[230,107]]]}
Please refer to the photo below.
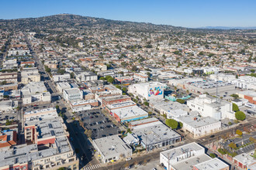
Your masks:
{"label": "low white street-corner building directly in front of the tall white one", "polygon": [[174,117],[176,121],[182,122],[184,131],[189,131],[194,138],[199,138],[207,134],[215,133],[221,130],[221,121],[213,117],[199,117],[194,115],[185,115]]}

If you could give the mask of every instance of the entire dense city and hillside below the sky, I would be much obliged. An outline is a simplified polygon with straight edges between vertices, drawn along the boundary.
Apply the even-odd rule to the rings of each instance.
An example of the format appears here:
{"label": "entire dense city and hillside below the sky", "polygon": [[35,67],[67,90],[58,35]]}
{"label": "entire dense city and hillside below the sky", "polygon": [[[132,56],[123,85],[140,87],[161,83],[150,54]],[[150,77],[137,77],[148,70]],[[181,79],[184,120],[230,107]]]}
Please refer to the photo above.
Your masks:
{"label": "entire dense city and hillside below the sky", "polygon": [[0,169],[256,169],[256,30],[0,19]]}

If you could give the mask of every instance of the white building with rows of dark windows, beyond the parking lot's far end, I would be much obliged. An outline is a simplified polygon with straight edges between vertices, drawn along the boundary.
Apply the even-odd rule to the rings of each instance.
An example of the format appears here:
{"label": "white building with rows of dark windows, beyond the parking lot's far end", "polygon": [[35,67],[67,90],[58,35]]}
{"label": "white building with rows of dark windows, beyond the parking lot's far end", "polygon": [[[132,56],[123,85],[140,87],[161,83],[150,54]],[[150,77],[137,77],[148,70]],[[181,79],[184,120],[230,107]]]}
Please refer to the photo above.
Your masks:
{"label": "white building with rows of dark windows, beyond the parking lot's far end", "polygon": [[71,100],[82,100],[83,99],[83,91],[78,88],[66,89],[63,92],[64,99],[67,101]]}

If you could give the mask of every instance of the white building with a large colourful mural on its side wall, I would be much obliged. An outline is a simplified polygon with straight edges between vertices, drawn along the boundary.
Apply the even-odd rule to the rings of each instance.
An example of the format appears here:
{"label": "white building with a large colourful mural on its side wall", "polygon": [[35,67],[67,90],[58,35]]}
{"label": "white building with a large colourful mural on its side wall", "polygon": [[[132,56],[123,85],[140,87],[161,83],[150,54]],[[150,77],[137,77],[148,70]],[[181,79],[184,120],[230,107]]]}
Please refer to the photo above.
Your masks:
{"label": "white building with a large colourful mural on its side wall", "polygon": [[164,98],[164,87],[165,85],[159,82],[137,83],[130,85],[128,91],[140,100],[157,100]]}

